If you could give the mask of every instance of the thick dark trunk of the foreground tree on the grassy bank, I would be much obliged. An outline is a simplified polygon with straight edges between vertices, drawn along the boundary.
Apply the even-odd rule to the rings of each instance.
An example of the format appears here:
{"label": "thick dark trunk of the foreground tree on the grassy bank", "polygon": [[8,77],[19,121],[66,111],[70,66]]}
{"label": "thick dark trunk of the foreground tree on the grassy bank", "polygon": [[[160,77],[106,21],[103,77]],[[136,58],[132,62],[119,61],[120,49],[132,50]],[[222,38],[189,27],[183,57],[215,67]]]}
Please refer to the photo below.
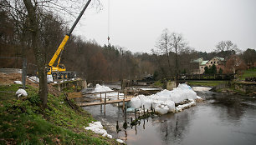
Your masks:
{"label": "thick dark trunk of the foreground tree on the grassy bank", "polygon": [[38,14],[36,13],[36,6],[33,6],[31,0],[23,0],[25,7],[28,11],[28,18],[30,22],[30,29],[32,34],[32,46],[34,56],[36,58],[36,63],[38,67],[38,77],[39,77],[39,96],[43,102],[43,106],[47,105],[48,97],[48,86],[47,77],[45,70],[45,58],[43,50],[40,47],[40,37],[39,37],[39,24],[38,24]]}

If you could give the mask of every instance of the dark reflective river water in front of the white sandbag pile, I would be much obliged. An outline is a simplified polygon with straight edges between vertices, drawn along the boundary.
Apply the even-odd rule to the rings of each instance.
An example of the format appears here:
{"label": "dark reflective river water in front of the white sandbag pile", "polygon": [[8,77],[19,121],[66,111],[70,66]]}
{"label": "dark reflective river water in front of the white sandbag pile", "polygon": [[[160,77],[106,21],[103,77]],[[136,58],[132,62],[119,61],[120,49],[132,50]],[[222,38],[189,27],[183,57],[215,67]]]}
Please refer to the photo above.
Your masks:
{"label": "dark reflective river water in front of the white sandbag pile", "polygon": [[[203,88],[203,87],[202,87]],[[224,95],[198,89],[205,101],[182,112],[150,117],[129,128],[122,128],[124,115],[113,105],[84,107],[102,122],[113,138],[127,144],[256,144],[256,97]],[[201,91],[200,91],[201,90]],[[104,107],[103,107],[104,108]],[[131,122],[133,113],[127,113]],[[116,132],[116,121],[121,130]]]}

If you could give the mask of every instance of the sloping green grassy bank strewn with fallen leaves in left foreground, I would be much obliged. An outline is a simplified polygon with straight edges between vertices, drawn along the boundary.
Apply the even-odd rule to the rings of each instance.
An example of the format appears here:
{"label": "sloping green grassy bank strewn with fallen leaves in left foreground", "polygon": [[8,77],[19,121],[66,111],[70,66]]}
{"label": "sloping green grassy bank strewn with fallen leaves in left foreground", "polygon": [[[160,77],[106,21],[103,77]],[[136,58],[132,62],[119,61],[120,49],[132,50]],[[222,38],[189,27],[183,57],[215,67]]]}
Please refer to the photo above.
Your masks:
{"label": "sloping green grassy bank strewn with fallen leaves in left foreground", "polygon": [[17,98],[18,87],[0,86],[0,144],[118,144],[84,130],[95,119],[64,94],[49,94],[43,109],[37,88],[28,86],[28,97]]}

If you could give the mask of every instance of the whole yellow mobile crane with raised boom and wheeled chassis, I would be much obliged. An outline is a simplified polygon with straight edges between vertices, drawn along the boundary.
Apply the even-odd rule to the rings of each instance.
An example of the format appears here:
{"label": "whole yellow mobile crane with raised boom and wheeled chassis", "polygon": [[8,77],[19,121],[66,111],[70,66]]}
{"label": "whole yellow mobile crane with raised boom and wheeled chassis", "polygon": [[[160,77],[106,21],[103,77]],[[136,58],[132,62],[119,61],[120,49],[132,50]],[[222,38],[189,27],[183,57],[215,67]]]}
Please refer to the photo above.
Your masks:
{"label": "whole yellow mobile crane with raised boom and wheeled chassis", "polygon": [[[83,10],[81,11],[81,13],[79,13],[79,17],[76,18],[72,28],[70,28],[69,32],[65,35],[65,37],[64,37],[63,41],[60,43],[57,51],[54,53],[54,57],[52,57],[52,59],[50,60],[48,66],[47,66],[47,74],[52,75],[54,79],[68,79],[68,78],[76,77],[75,72],[66,71],[64,64],[59,64],[59,62],[60,62],[60,57],[64,50],[64,46],[65,46],[66,42],[69,40],[71,33],[73,32],[76,24],[79,22],[79,19],[84,14],[85,9],[90,4],[90,1],[91,0],[88,0],[88,2],[86,2]],[[54,62],[56,62],[58,57],[59,57],[59,60],[57,62],[56,67],[54,67]]]}

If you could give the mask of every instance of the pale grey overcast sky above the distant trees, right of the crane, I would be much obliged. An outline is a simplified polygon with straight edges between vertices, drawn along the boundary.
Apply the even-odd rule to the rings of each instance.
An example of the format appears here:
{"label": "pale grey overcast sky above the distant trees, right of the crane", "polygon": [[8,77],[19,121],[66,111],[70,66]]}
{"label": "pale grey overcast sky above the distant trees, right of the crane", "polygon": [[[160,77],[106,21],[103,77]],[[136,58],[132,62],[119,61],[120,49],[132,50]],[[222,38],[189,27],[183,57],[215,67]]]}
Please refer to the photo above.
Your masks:
{"label": "pale grey overcast sky above the distant trees, right of the crane", "polygon": [[[212,52],[222,40],[256,48],[256,0],[109,0],[110,43],[151,52],[163,29],[182,33],[189,46]],[[107,44],[108,0],[86,10],[74,34]]]}

